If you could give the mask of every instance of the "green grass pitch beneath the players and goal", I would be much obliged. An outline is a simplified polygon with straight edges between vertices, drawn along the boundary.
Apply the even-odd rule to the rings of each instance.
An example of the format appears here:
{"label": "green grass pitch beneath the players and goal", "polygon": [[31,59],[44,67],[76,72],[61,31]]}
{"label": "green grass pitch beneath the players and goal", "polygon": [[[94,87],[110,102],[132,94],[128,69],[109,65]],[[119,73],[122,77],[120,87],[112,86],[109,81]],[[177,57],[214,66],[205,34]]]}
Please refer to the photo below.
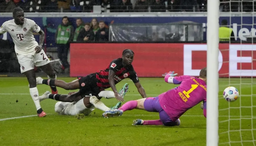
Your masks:
{"label": "green grass pitch beneath the players and goal", "polygon": [[[44,77],[45,78],[45,77]],[[66,82],[75,78],[58,78]],[[120,89],[129,83],[126,101],[140,99],[136,87],[131,80],[125,79],[117,84]],[[219,142],[223,146],[252,146],[256,143],[256,79],[228,78],[219,79]],[[200,105],[188,110],[180,117],[179,127],[164,126],[132,126],[133,120],[159,119],[158,113],[142,110],[127,111],[123,116],[103,118],[102,111],[95,109],[90,116],[81,120],[74,116],[60,116],[54,112],[56,101],[47,99],[41,106],[48,114],[44,118],[36,114],[34,102],[29,94],[28,82],[25,77],[0,78],[0,145],[59,145],[59,146],[205,146],[206,118]],[[140,78],[148,97],[155,97],[176,85],[167,84],[163,78]],[[230,83],[230,84],[229,84]],[[240,84],[241,83],[241,84]],[[234,103],[223,99],[222,92],[228,86],[236,87],[240,97]],[[253,85],[253,86],[252,86]],[[37,86],[42,95],[50,88],[46,85]],[[69,91],[58,88],[60,94]],[[16,102],[17,101],[17,102]],[[107,106],[115,105],[116,99],[102,99]],[[208,103],[211,104],[211,103]],[[229,104],[232,108],[228,110]],[[238,108],[237,108],[238,107]],[[241,107],[241,108],[239,108]],[[24,118],[6,118],[30,116]],[[230,117],[229,117],[230,115]],[[208,115],[211,116],[211,115]],[[5,120],[3,120],[5,119]],[[231,119],[231,120],[229,120]],[[235,119],[235,120],[232,120]],[[227,133],[230,131],[229,133]],[[230,139],[230,141],[229,141]],[[254,143],[252,142],[254,140]],[[243,141],[243,143],[239,142]]]}

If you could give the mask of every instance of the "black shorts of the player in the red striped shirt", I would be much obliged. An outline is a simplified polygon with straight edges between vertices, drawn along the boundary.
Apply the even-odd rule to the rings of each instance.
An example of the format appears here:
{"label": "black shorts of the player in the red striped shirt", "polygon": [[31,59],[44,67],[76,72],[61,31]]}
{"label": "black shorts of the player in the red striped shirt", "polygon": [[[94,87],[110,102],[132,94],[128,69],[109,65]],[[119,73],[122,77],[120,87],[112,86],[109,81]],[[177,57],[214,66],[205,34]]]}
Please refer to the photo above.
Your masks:
{"label": "black shorts of the player in the red striped shirt", "polygon": [[96,83],[96,73],[87,75],[85,77],[77,77],[79,82],[79,91],[82,97],[98,96],[102,91],[98,88]]}

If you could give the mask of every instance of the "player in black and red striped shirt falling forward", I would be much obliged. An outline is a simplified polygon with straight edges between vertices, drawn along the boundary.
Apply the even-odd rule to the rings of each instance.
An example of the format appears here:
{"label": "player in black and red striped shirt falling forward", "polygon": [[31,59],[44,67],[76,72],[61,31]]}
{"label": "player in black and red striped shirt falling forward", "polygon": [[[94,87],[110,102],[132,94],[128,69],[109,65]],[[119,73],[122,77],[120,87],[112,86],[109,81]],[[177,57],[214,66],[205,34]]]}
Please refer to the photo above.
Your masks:
{"label": "player in black and red striped shirt falling forward", "polygon": [[[86,77],[78,78],[75,81],[66,83],[62,80],[48,80],[37,78],[37,84],[45,84],[50,86],[61,87],[66,90],[80,89],[72,95],[49,94],[47,97],[62,102],[75,102],[82,99],[84,96],[97,96],[104,89],[111,87],[113,92],[109,92],[108,98],[116,98],[123,102],[123,97],[116,90],[116,84],[124,78],[130,78],[138,89],[142,98],[147,98],[144,88],[141,86],[136,72],[133,69],[134,53],[130,49],[123,50],[122,58],[113,60],[105,70],[97,71],[96,73],[87,75]],[[100,96],[100,97],[99,97]]]}

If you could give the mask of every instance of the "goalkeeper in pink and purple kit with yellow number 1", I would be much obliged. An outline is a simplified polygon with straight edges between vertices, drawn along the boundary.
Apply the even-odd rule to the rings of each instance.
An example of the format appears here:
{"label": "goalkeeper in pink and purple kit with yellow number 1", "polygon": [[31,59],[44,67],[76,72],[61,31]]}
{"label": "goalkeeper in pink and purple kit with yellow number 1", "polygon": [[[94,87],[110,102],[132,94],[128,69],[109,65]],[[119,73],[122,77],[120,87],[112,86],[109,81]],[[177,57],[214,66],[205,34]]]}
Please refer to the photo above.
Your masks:
{"label": "goalkeeper in pink and purple kit with yellow number 1", "polygon": [[143,109],[148,112],[158,112],[159,120],[133,121],[133,125],[165,125],[179,126],[180,116],[188,109],[204,102],[204,116],[206,117],[206,68],[201,69],[199,78],[168,72],[164,74],[165,82],[180,84],[178,87],[160,94],[157,97],[128,101],[119,109],[110,110],[102,114],[104,117],[121,116],[124,111],[132,109]]}

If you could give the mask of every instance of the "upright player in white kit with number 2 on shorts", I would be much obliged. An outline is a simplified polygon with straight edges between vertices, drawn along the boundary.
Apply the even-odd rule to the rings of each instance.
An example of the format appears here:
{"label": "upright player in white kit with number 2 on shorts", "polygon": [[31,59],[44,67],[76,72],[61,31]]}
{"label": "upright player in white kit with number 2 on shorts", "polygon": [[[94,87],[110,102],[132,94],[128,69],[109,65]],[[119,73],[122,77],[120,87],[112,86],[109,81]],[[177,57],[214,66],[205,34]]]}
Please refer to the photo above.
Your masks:
{"label": "upright player in white kit with number 2 on shorts", "polygon": [[[42,50],[44,31],[33,20],[24,18],[24,11],[20,7],[14,8],[12,15],[14,19],[6,21],[0,27],[0,35],[8,32],[12,36],[20,71],[26,75],[29,82],[30,95],[34,100],[37,115],[43,117],[46,113],[40,106],[34,66],[40,67],[49,79],[56,79],[55,71]],[[39,44],[35,41],[33,31],[40,34]],[[58,94],[56,87],[52,86],[51,89],[53,94]]]}

